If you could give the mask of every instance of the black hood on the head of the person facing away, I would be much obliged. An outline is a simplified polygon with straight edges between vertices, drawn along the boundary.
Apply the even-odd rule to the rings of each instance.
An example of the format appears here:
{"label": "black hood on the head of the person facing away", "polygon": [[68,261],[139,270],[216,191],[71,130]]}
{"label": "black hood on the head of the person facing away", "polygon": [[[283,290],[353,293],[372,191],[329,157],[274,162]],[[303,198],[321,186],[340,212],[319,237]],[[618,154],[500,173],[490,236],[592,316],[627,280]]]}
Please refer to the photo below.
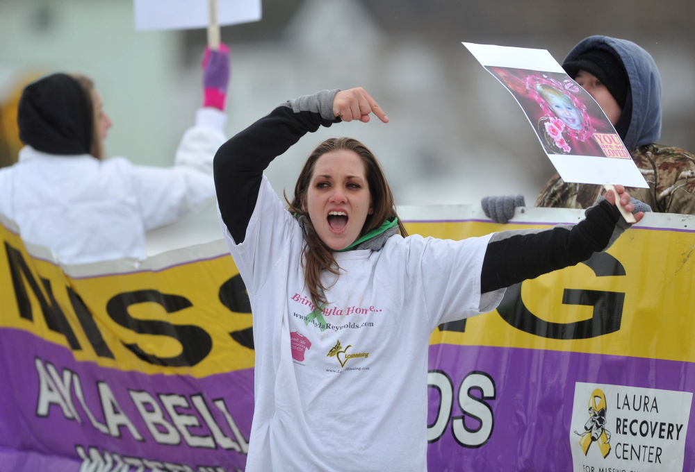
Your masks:
{"label": "black hood on the head of the person facing away", "polygon": [[24,87],[17,107],[19,139],[51,154],[88,154],[92,148],[91,101],[67,74],[52,74]]}

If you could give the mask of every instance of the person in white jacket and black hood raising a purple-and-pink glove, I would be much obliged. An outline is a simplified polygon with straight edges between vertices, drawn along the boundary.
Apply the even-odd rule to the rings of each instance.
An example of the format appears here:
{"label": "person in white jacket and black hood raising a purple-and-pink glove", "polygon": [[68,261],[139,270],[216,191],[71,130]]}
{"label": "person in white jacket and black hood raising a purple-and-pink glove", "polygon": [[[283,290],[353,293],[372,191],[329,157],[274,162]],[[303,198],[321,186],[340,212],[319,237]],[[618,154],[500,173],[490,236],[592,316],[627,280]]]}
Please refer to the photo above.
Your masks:
{"label": "person in white jacket and black hood raising a purple-and-pink glove", "polygon": [[208,51],[204,106],[168,168],[104,160],[111,119],[89,78],[52,74],[27,85],[17,113],[25,146],[17,164],[0,169],[0,213],[63,264],[144,258],[147,230],[215,198],[212,161],[225,140],[228,81],[228,50]]}

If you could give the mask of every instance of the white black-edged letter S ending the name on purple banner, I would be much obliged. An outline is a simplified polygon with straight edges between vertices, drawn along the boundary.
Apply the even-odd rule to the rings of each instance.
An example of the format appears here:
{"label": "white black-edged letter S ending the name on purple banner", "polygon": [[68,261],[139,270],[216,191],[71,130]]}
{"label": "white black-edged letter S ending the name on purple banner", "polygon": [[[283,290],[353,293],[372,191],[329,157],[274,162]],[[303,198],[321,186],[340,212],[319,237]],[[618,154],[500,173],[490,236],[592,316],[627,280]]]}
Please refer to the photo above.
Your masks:
{"label": "white black-edged letter S ending the name on purple banner", "polygon": [[[485,444],[492,435],[495,417],[490,405],[471,395],[471,390],[477,389],[482,393],[482,398],[489,400],[496,396],[495,383],[484,372],[471,372],[461,382],[459,387],[459,407],[463,416],[455,416],[451,420],[451,430],[457,443],[466,448],[479,448]],[[476,429],[469,429],[464,421],[470,416],[480,422]]]}

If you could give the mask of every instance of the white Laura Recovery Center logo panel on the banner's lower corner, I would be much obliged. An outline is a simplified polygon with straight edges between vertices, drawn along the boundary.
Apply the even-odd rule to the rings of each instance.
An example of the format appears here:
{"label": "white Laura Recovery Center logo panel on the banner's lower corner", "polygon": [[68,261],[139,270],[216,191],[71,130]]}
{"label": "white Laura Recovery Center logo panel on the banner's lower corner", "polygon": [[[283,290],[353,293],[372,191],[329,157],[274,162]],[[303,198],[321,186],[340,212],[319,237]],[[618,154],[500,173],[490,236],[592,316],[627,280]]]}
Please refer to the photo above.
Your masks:
{"label": "white Laura Recovery Center logo panel on the banner's lower corner", "polygon": [[574,470],[681,472],[691,402],[689,391],[577,382],[570,430]]}

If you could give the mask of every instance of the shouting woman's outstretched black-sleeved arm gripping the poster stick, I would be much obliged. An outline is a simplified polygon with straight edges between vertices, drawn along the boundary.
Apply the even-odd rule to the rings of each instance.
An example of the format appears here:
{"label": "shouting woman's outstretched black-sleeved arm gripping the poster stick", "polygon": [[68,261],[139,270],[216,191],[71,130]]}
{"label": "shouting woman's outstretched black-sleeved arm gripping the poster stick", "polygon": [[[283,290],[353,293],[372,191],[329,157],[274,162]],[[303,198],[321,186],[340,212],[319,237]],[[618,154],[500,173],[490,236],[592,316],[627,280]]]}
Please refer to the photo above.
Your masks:
{"label": "shouting woman's outstretched black-sleeved arm gripping the poster stick", "polygon": [[[630,196],[621,192],[626,210],[634,210]],[[482,265],[480,292],[509,287],[543,273],[569,267],[604,251],[630,227],[614,205],[612,192],[598,205],[587,209],[587,217],[575,225],[558,225],[543,230],[511,230],[490,239]],[[631,205],[631,206],[629,206]],[[643,213],[635,214],[639,221]],[[617,234],[616,234],[617,233]]]}

